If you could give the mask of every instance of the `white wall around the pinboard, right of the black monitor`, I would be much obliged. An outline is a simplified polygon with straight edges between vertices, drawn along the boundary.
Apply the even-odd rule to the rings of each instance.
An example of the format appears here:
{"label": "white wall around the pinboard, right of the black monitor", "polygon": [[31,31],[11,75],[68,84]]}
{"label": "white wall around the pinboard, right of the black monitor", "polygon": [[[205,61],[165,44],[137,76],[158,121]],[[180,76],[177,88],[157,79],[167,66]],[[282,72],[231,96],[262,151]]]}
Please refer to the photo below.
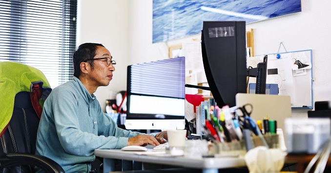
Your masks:
{"label": "white wall around the pinboard, right of the black monitor", "polygon": [[[255,54],[274,53],[283,42],[287,51],[312,50],[313,98],[331,100],[331,16],[329,0],[302,0],[302,12],[248,24],[254,29]],[[285,52],[281,48],[282,52]],[[292,116],[306,117],[307,110],[292,110]]]}

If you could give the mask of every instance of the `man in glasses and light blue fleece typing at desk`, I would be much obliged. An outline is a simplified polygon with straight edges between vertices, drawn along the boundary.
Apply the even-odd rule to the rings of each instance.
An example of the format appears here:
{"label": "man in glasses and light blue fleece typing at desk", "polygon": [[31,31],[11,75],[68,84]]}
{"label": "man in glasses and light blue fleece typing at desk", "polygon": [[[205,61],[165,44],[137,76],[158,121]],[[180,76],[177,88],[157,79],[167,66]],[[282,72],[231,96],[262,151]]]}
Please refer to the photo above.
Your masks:
{"label": "man in glasses and light blue fleece typing at desk", "polygon": [[95,149],[164,143],[160,134],[154,138],[120,129],[103,113],[93,93],[109,85],[116,62],[102,44],[80,45],[73,62],[73,80],[54,88],[43,105],[37,155],[53,159],[66,173],[88,173]]}

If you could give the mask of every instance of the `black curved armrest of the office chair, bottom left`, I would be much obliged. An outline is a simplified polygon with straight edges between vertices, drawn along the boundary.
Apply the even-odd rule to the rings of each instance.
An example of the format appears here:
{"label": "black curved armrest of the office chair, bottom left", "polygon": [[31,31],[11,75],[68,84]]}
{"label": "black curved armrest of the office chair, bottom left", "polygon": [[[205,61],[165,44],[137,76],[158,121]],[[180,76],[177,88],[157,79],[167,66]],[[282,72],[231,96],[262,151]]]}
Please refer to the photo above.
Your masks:
{"label": "black curved armrest of the office chair, bottom left", "polygon": [[33,165],[41,168],[46,173],[64,173],[62,167],[54,160],[45,157],[25,153],[8,153],[0,157],[0,167],[11,167],[16,165]]}

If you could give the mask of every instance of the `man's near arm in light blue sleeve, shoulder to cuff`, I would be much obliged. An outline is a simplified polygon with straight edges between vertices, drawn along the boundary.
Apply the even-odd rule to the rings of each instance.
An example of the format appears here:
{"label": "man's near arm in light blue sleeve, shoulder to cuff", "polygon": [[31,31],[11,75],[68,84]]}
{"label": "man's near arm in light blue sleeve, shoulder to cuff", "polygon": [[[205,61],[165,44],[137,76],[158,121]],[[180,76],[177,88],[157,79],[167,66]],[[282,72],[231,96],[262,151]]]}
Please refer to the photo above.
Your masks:
{"label": "man's near arm in light blue sleeve, shoulder to cuff", "polygon": [[[76,98],[76,95],[63,89],[53,91],[58,92],[54,93],[56,96],[52,100],[54,123],[65,152],[76,156],[92,156],[95,149],[120,149],[127,145],[127,136],[130,135],[98,136],[93,134],[94,122],[86,113],[89,110],[79,105],[77,101],[82,98]],[[85,108],[86,110],[82,110]]]}

